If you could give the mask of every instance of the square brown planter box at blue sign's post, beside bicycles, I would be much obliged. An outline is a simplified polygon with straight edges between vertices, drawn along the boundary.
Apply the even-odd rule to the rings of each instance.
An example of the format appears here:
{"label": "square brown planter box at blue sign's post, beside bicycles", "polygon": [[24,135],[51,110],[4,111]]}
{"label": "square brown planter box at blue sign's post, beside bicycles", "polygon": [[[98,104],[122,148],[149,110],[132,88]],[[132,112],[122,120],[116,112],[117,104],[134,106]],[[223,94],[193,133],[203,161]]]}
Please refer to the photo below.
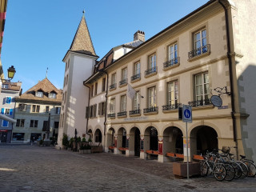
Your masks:
{"label": "square brown planter box at blue sign's post, beside bicycles", "polygon": [[[200,162],[189,162],[190,176],[200,174]],[[186,162],[174,162],[173,164],[174,176],[186,178]]]}

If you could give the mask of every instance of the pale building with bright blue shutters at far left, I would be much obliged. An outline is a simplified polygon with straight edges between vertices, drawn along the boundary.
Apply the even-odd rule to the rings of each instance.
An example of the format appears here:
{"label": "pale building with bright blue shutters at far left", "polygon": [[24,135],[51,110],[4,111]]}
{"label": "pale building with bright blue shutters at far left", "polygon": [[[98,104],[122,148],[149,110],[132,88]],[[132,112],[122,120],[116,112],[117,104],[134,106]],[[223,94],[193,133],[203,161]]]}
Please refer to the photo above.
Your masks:
{"label": "pale building with bright blue shutters at far left", "polygon": [[[0,94],[1,114],[14,118],[15,98],[22,94],[22,82],[4,82]],[[4,119],[0,120],[0,141],[10,142],[13,123]]]}

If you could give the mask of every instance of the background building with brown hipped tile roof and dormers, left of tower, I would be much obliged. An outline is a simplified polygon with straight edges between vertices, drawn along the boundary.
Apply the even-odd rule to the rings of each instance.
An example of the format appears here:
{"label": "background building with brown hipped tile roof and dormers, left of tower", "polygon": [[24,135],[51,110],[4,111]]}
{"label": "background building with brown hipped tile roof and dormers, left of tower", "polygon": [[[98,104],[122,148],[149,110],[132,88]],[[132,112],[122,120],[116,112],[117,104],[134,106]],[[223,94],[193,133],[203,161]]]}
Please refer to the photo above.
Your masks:
{"label": "background building with brown hipped tile roof and dormers, left of tower", "polygon": [[58,137],[62,90],[44,78],[15,100],[12,142]]}

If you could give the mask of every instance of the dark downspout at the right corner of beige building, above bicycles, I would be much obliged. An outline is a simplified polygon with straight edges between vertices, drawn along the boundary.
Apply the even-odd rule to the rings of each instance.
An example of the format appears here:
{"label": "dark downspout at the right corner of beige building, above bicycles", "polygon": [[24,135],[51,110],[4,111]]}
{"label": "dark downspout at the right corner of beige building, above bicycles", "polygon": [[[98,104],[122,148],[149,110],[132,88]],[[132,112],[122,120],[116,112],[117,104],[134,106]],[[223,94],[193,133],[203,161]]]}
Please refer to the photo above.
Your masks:
{"label": "dark downspout at the right corner of beige building, above bicycles", "polygon": [[238,139],[237,139],[237,126],[234,118],[235,110],[234,110],[234,81],[233,81],[233,68],[232,68],[232,60],[231,60],[231,48],[230,48],[230,27],[229,27],[229,18],[228,18],[228,10],[226,6],[222,3],[221,0],[218,0],[219,4],[225,10],[225,21],[226,21],[226,43],[227,43],[227,58],[229,60],[229,70],[230,70],[230,97],[231,97],[231,117],[233,122],[233,137],[235,142],[236,156],[238,158]]}

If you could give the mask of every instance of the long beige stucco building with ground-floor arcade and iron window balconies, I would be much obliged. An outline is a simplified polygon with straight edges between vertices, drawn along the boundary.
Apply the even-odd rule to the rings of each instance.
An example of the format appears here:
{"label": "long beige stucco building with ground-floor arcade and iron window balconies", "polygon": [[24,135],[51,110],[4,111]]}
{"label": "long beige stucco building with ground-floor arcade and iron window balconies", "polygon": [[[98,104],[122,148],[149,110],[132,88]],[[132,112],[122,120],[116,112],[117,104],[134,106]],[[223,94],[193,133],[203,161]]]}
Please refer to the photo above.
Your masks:
{"label": "long beige stucco building with ground-floor arcade and iron window balconies", "polygon": [[[120,57],[106,54],[84,81],[90,98],[82,129],[95,142],[102,135],[105,151],[114,154],[166,162],[171,152],[186,159],[186,123],[178,119],[186,104],[193,117],[188,158],[237,146],[237,157],[256,160],[255,8],[252,0],[211,0]],[[129,85],[134,98],[127,97]],[[213,95],[222,106],[213,105]]]}

